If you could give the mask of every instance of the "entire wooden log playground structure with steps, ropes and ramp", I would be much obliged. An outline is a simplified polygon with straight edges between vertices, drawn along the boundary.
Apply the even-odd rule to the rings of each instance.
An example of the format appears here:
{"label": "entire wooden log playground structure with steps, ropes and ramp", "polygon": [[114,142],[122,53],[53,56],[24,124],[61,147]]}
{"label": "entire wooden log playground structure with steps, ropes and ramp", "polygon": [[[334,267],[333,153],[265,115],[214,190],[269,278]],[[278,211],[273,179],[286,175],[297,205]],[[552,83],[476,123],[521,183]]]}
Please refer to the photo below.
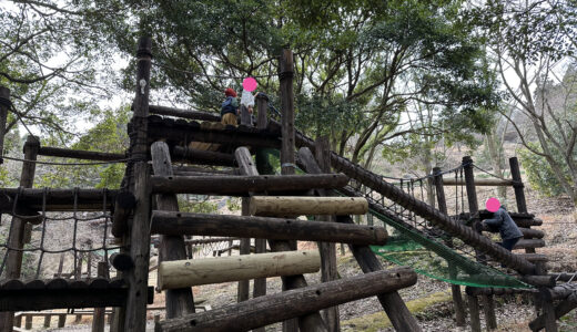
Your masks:
{"label": "entire wooden log playground structure with steps, ropes and ramp", "polygon": [[[351,217],[370,210],[429,239],[435,231],[458,239],[472,248],[478,261],[457,257],[460,264],[487,264],[490,260],[515,270],[513,278],[532,286],[467,287],[465,304],[460,287],[452,284],[458,325],[465,324],[468,308],[472,331],[480,331],[480,300],[487,328],[497,328],[494,297],[513,292],[534,294],[539,313],[530,324],[534,331],[557,331],[556,320],[577,307],[576,288],[570,283],[575,274],[549,274],[547,258],[535,253],[535,248],[545,246],[544,234],[530,227],[541,221],[527,211],[516,158],[509,160],[510,179],[475,179],[469,157],[463,159],[457,170],[463,174],[460,178],[444,178],[448,173],[435,169],[425,179],[434,183],[438,206],[435,208],[423,196],[418,199],[404,190],[403,183],[395,186],[331,152],[325,139],[313,141],[295,131],[290,50],[284,50],[280,58],[281,121],[269,117],[266,96],[260,95],[256,124],[243,112],[241,125],[231,126],[221,124],[220,116],[213,114],[149,105],[151,49],[150,39],[139,41],[126,154],[43,147],[38,138],[29,136],[20,187],[0,189],[0,211],[12,216],[10,234],[0,247],[6,253],[0,270],[0,332],[21,325],[18,320],[23,315],[18,314],[14,321],[14,312],[74,308],[97,308],[93,331],[103,331],[105,315],[110,318],[111,331],[145,331],[146,308],[154,291],[148,284],[149,273],[159,273],[158,289],[165,290],[166,317],[155,322],[155,331],[264,331],[266,325],[283,322],[283,331],[332,332],[340,330],[338,304],[375,295],[397,331],[421,331],[397,292],[416,283],[416,272],[408,267],[384,270],[370,246],[385,245],[389,237],[386,229],[356,225]],[[6,122],[9,91],[0,89],[0,120]],[[3,131],[4,123],[0,126]],[[203,146],[200,144],[211,148],[195,148]],[[266,167],[254,162],[253,155],[264,148],[281,151],[281,175],[269,174]],[[121,162],[126,164],[126,170],[118,190],[36,189],[32,186],[38,156]],[[203,167],[206,165],[223,169]],[[305,174],[295,174],[296,168]],[[444,189],[447,186],[466,189],[467,212],[449,214]],[[512,253],[475,227],[459,221],[469,219],[475,226],[486,217],[478,208],[476,186],[514,188],[517,212],[512,212],[512,217],[524,232],[517,248],[525,249],[525,253]],[[178,194],[242,197],[242,216],[181,212]],[[60,253],[49,249],[43,240],[49,224],[58,221],[50,217],[54,211],[71,214],[72,243],[61,251],[74,256],[73,271],[82,264],[81,255],[104,252],[98,262],[98,277],[88,272],[83,278],[80,267],[80,273],[70,273],[70,279],[60,273],[52,279],[40,278],[42,257]],[[81,217],[81,212],[93,217]],[[315,220],[300,220],[298,216],[315,216]],[[102,246],[87,249],[79,245],[78,235],[79,225],[90,218],[103,219],[104,228],[98,239]],[[424,224],[417,224],[418,220]],[[26,246],[32,226],[42,232],[38,248]],[[108,242],[109,234],[118,245]],[[151,271],[151,237],[155,235],[159,268]],[[230,241],[231,247],[233,239],[240,239],[240,253],[247,256],[192,259],[188,248],[202,240],[190,236],[219,237]],[[255,239],[254,255],[249,255],[251,239]],[[296,250],[297,240],[317,242],[318,252]],[[335,243],[348,245],[364,274],[337,278]],[[441,252],[452,246],[444,240],[429,249],[439,248]],[[30,280],[21,278],[22,255],[27,250],[40,255],[36,278]],[[109,251],[113,255],[109,256]],[[115,277],[111,277],[112,269]],[[308,284],[303,274],[318,270],[322,282]],[[267,277],[281,277],[283,291],[267,294]],[[227,281],[239,281],[239,302],[196,312],[191,287]],[[105,312],[104,308],[111,307],[114,310]],[[31,314],[27,314],[28,319]],[[52,315],[61,318],[62,313],[45,317]]]}

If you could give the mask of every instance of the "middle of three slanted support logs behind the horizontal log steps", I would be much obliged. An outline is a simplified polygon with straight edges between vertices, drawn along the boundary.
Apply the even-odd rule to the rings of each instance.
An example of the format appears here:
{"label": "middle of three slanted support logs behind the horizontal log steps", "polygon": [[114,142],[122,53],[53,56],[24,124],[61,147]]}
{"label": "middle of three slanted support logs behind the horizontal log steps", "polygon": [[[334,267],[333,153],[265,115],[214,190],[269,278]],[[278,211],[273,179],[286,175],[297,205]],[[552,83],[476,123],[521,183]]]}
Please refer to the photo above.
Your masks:
{"label": "middle of three slanted support logs behind the horizontal log steps", "polygon": [[[256,166],[253,163],[251,153],[246,147],[239,147],[234,155],[236,157],[236,162],[239,163],[239,168],[241,169],[241,174],[244,175],[259,175],[259,172],[256,170]],[[251,194],[252,195],[252,194]],[[288,241],[275,241],[275,240],[269,240],[269,246],[271,247],[272,251],[288,251],[293,250],[291,242]],[[283,282],[283,290],[291,290],[291,289],[297,289],[306,287],[306,280],[302,274],[296,276],[287,276],[287,277],[281,277],[281,280]],[[285,324],[285,328],[294,328],[294,323]],[[323,319],[321,318],[321,314],[318,312],[308,313],[305,315],[302,315],[298,318],[298,324],[302,326],[305,331],[324,331],[326,330],[325,324],[323,322]]]}

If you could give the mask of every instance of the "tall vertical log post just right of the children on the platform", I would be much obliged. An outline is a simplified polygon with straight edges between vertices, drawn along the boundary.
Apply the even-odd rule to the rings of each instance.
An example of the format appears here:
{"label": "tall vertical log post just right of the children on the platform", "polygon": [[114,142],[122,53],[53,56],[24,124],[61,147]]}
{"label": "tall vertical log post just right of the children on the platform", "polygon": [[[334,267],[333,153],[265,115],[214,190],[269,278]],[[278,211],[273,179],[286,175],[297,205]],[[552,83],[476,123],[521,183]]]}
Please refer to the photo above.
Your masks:
{"label": "tall vertical log post just right of the children on the platform", "polygon": [[[281,174],[294,174],[294,94],[293,94],[293,52],[284,49],[279,61],[281,94]],[[272,249],[273,246],[271,246]],[[288,248],[296,250],[296,241],[288,241]],[[284,290],[285,283],[283,283]],[[296,320],[283,322],[283,332],[296,332]]]}

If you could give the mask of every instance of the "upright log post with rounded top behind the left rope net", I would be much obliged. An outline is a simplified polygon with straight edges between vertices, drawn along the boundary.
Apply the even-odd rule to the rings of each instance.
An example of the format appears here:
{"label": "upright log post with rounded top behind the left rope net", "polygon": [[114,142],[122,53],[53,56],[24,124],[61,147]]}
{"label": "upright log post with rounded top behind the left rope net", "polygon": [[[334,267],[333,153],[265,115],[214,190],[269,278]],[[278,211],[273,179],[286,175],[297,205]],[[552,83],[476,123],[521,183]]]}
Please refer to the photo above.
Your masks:
{"label": "upright log post with rounded top behind the left rope net", "polygon": [[[32,188],[34,183],[36,159],[40,143],[36,136],[28,136],[24,144],[24,162],[20,175],[20,187]],[[13,249],[22,249],[24,246],[26,220],[12,217],[10,224],[10,237],[8,246]],[[9,250],[6,259],[6,279],[19,279],[22,270],[22,255],[20,250]],[[0,332],[10,332],[13,326],[13,312],[0,312]]]}

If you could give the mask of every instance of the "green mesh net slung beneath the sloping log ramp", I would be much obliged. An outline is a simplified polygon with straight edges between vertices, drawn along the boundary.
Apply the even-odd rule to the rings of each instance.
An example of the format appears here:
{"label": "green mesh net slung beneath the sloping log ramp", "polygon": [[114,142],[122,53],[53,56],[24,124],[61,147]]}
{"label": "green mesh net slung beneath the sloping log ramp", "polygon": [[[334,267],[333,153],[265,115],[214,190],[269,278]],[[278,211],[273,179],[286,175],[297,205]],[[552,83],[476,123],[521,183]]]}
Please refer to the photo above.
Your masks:
{"label": "green mesh net slung beneath the sloping log ramp", "polygon": [[[371,246],[384,259],[408,266],[417,273],[455,284],[495,288],[532,288],[518,279],[489,266],[476,262],[446,243],[427,238],[404,222],[370,210],[370,214],[394,228],[386,246]],[[458,241],[458,239],[453,239]]]}

